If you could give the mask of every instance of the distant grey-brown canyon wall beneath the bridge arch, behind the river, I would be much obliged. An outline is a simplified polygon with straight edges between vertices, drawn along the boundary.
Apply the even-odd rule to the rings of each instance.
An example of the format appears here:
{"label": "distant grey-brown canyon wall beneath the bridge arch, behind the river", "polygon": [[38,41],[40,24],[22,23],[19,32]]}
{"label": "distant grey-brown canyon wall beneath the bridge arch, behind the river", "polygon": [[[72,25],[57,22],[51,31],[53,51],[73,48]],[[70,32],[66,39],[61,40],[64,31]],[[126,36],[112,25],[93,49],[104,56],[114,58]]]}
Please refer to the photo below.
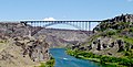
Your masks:
{"label": "distant grey-brown canyon wall beneath the bridge arch, behind the river", "polygon": [[48,42],[51,47],[65,47],[84,42],[88,38],[88,34],[84,32],[58,29],[43,29],[35,35],[47,35],[45,42]]}

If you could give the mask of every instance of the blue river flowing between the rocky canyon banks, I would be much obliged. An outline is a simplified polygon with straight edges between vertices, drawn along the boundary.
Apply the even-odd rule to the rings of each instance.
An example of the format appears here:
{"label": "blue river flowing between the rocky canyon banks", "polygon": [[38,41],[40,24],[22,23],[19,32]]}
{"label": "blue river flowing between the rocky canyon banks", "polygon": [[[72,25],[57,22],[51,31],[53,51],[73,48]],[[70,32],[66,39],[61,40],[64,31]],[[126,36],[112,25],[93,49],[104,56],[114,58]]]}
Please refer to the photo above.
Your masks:
{"label": "blue river flowing between the rocky canyon banks", "polygon": [[55,67],[104,67],[94,62],[66,55],[64,48],[51,48],[50,53],[55,58]]}

